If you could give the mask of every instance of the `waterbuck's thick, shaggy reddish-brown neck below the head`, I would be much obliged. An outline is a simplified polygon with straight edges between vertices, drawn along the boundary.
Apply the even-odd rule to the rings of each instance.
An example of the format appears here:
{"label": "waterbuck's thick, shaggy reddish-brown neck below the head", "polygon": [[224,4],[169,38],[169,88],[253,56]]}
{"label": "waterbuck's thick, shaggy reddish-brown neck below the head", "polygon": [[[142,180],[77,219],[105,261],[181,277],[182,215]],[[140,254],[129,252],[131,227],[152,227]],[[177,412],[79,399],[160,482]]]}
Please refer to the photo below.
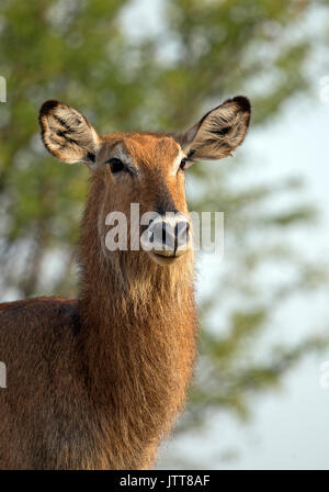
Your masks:
{"label": "waterbuck's thick, shaggy reddish-brown neck below the head", "polygon": [[104,203],[105,188],[95,179],[81,237],[83,346],[91,392],[109,420],[109,460],[115,468],[140,468],[150,465],[191,379],[192,255],[170,267],[156,265],[145,251],[106,257]]}

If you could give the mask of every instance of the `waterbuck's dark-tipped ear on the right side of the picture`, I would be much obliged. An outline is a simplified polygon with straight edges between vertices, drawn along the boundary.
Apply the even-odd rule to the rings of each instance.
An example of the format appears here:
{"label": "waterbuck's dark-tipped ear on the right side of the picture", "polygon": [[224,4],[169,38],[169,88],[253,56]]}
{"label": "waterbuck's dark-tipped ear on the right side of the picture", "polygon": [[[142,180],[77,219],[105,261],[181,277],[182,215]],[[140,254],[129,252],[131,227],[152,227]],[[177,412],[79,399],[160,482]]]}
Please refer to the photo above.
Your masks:
{"label": "waterbuck's dark-tipped ear on the right side of the picture", "polygon": [[250,102],[243,96],[209,111],[179,138],[188,159],[217,160],[230,155],[243,142],[250,114]]}

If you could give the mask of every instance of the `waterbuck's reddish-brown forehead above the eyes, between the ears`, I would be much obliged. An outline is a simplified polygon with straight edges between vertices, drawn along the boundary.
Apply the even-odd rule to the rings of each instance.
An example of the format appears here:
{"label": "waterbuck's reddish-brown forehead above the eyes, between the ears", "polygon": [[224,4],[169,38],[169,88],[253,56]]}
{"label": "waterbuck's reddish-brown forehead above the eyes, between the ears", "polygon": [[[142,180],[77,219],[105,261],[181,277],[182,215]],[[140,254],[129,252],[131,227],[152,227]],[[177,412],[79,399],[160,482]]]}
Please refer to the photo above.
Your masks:
{"label": "waterbuck's reddish-brown forehead above the eyes, between the ears", "polygon": [[110,156],[120,148],[133,158],[136,165],[146,166],[172,164],[181,154],[181,146],[166,134],[152,133],[117,133],[103,137],[102,155]]}

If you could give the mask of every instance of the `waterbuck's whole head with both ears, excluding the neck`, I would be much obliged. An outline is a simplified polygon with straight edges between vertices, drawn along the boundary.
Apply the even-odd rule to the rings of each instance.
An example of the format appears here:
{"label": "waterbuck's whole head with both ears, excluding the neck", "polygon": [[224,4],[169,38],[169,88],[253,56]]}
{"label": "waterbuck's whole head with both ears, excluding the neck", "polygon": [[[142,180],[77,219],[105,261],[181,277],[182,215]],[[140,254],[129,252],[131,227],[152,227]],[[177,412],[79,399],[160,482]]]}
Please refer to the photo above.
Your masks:
{"label": "waterbuck's whole head with both ears, excluding the neck", "polygon": [[[58,101],[46,101],[39,113],[46,148],[66,163],[86,163],[104,183],[101,219],[105,221],[112,211],[123,213],[129,234],[134,230],[143,249],[160,265],[173,264],[192,249],[185,169],[194,160],[230,155],[242,143],[249,120],[250,103],[243,97],[225,101],[178,136],[115,133],[100,137],[80,112]],[[139,216],[146,217],[137,228],[132,227],[132,203],[139,204]]]}

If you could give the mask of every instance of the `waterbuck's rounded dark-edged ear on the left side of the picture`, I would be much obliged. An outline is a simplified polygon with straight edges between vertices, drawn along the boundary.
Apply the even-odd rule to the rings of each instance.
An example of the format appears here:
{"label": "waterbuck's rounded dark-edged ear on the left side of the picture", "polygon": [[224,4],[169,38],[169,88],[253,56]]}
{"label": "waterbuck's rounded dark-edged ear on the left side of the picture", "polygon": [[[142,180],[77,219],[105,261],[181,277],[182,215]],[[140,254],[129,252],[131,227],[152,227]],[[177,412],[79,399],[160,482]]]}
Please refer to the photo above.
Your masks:
{"label": "waterbuck's rounded dark-edged ear on the left side of the picture", "polygon": [[65,163],[95,161],[100,137],[79,111],[59,101],[46,101],[39,110],[42,137],[46,148]]}

